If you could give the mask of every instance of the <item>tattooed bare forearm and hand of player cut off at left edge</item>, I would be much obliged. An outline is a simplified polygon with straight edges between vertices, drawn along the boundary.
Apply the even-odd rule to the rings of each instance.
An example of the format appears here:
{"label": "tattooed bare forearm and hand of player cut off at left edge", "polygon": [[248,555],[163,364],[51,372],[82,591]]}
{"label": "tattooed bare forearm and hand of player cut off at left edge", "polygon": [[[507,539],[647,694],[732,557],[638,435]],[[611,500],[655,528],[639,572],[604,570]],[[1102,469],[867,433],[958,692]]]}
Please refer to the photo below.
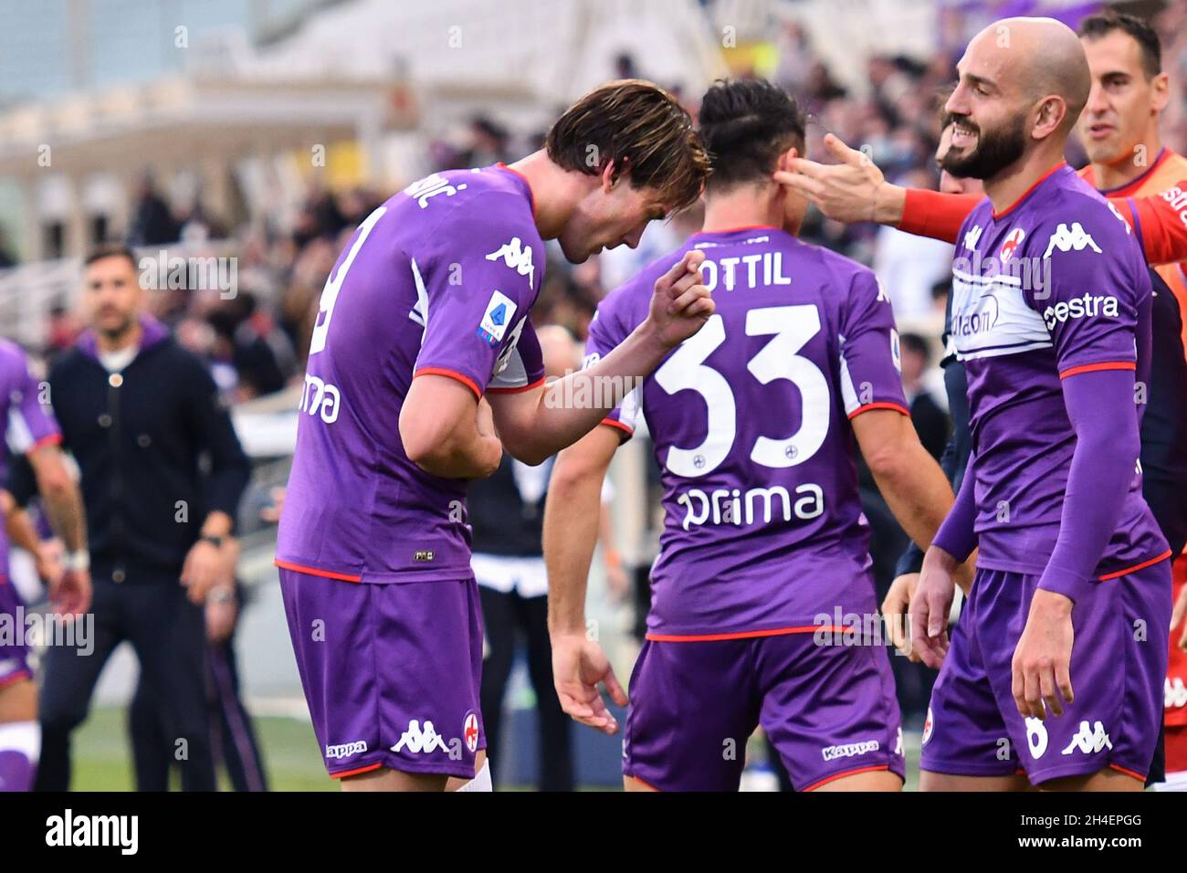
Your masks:
{"label": "tattooed bare forearm and hand of player cut off at left edge", "polygon": [[55,444],[40,445],[28,453],[28,463],[37,476],[37,488],[45,501],[45,512],[55,533],[66,548],[66,564],[50,587],[50,599],[63,615],[78,615],[90,606],[90,569],[87,556],[87,513],[82,494],[66,470],[62,450]]}

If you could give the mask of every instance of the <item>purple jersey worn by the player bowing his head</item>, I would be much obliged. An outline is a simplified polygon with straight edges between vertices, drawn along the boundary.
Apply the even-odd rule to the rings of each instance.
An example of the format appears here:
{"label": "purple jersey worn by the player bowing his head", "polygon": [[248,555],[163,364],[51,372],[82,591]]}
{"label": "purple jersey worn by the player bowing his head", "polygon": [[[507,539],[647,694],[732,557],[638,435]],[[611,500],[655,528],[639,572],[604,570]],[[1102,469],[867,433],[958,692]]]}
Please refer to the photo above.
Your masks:
{"label": "purple jersey worn by the player bowing his head", "polygon": [[277,563],[362,582],[470,577],[465,481],[408,460],[414,375],[478,397],[544,378],[532,190],[503,167],[434,173],[358,227],[322,291]]}

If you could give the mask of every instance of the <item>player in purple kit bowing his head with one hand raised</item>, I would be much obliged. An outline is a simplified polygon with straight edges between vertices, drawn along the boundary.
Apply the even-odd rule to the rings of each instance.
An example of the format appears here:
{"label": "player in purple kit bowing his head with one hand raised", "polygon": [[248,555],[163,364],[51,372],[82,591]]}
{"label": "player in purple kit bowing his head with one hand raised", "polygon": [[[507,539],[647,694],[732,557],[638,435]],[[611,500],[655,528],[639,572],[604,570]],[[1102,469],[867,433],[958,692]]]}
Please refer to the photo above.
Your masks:
{"label": "player in purple kit bowing his head with one hand raised", "polygon": [[[338,258],[277,564],[313,729],[343,789],[440,790],[452,777],[489,790],[465,480],[504,449],[540,463],[578,439],[713,310],[703,255],[690,254],[618,352],[546,388],[528,320],[544,240],[573,262],[635,246],[648,221],[697,200],[707,171],[671,95],[611,82],[567,109],[544,150],[410,185]],[[618,390],[565,401],[601,379]]]}

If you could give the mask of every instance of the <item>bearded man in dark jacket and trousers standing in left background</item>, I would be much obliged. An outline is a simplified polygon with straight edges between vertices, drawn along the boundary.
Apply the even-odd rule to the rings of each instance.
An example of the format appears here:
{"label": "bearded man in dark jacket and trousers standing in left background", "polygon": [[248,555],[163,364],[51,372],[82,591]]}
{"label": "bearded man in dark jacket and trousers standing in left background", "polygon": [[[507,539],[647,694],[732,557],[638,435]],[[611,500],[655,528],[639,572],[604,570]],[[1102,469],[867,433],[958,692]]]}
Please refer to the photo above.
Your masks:
{"label": "bearded man in dark jacket and trousers standing in left background", "polygon": [[[215,789],[207,723],[203,603],[234,584],[226,542],[249,466],[203,362],[145,315],[135,257],[106,247],[85,262],[90,330],[50,373],[64,447],[82,472],[90,521],[95,651],[49,650],[38,790],[70,784],[70,734],[87,717],[119,643],[137,651],[163,702],[182,786]],[[133,749],[135,752],[135,749]],[[164,790],[137,758],[141,790]],[[152,768],[159,770],[159,768]]]}

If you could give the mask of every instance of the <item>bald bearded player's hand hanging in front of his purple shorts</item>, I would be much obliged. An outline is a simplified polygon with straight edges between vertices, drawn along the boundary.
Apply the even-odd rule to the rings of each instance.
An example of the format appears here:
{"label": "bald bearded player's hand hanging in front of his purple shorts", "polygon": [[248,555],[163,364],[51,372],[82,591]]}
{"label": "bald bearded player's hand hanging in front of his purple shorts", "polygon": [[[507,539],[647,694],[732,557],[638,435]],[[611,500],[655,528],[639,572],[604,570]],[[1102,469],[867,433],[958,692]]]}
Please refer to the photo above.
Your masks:
{"label": "bald bearded player's hand hanging in front of his purple shorts", "polygon": [[1075,700],[1072,694],[1074,635],[1072,601],[1062,594],[1037,589],[1010,665],[1014,702],[1023,717],[1046,719],[1048,709],[1062,715],[1064,702],[1071,706]]}

